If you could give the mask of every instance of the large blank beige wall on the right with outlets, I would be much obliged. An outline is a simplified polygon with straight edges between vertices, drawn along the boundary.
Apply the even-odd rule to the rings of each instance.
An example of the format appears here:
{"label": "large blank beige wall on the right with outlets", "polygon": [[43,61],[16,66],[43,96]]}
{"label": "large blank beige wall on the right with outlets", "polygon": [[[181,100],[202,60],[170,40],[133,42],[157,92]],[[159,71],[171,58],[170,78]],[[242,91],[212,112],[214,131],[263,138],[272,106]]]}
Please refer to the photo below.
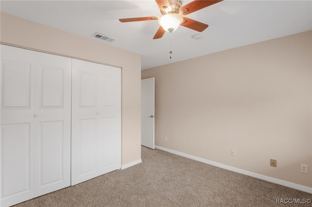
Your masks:
{"label": "large blank beige wall on the right with outlets", "polygon": [[312,187],[311,31],[141,74],[155,77],[156,145]]}

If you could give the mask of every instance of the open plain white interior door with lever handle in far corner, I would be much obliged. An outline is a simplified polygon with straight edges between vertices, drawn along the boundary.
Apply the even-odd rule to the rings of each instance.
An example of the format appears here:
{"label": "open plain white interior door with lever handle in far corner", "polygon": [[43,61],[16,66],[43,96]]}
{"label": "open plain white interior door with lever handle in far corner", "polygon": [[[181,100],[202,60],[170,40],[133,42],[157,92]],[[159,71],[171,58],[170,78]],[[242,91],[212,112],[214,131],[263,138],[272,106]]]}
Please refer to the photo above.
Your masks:
{"label": "open plain white interior door with lever handle in far corner", "polygon": [[141,145],[155,149],[155,78],[141,80]]}

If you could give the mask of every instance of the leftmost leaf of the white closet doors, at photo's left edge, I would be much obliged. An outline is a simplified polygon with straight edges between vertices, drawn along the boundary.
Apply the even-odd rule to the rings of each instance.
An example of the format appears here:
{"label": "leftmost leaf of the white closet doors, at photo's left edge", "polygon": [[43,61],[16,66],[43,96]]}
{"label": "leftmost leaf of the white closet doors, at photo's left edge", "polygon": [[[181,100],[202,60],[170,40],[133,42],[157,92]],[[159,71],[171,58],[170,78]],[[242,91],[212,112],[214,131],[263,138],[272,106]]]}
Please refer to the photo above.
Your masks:
{"label": "leftmost leaf of the white closet doors, at photo's left edge", "polygon": [[34,196],[32,52],[1,45],[1,199],[11,206]]}

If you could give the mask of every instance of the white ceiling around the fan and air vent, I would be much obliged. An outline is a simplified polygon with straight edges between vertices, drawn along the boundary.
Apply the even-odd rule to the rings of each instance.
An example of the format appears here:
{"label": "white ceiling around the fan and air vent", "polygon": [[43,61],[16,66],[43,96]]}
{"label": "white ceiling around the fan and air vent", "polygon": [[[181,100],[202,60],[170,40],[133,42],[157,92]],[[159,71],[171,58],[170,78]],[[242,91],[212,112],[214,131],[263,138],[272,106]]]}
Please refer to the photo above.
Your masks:
{"label": "white ceiling around the fan and air vent", "polygon": [[[161,16],[155,0],[1,0],[0,10],[138,53],[142,69],[312,30],[311,0],[221,1],[187,16],[209,25],[198,40],[192,38],[198,32],[182,26],[153,39],[157,20],[118,21]],[[96,39],[96,32],[117,40]]]}

